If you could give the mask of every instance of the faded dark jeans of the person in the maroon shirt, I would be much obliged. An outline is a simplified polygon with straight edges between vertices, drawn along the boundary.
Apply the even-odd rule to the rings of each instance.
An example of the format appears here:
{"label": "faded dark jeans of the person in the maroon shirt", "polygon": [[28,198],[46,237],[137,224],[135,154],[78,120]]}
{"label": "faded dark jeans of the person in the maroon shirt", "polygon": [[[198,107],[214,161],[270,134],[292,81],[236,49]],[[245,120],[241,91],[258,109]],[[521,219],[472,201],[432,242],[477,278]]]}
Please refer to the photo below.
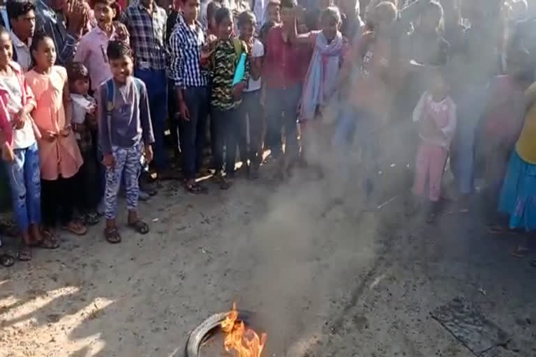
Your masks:
{"label": "faded dark jeans of the person in the maroon shirt", "polygon": [[281,155],[281,130],[285,128],[285,153],[297,155],[297,109],[301,97],[301,84],[289,88],[269,88],[266,91],[266,141],[275,158]]}

